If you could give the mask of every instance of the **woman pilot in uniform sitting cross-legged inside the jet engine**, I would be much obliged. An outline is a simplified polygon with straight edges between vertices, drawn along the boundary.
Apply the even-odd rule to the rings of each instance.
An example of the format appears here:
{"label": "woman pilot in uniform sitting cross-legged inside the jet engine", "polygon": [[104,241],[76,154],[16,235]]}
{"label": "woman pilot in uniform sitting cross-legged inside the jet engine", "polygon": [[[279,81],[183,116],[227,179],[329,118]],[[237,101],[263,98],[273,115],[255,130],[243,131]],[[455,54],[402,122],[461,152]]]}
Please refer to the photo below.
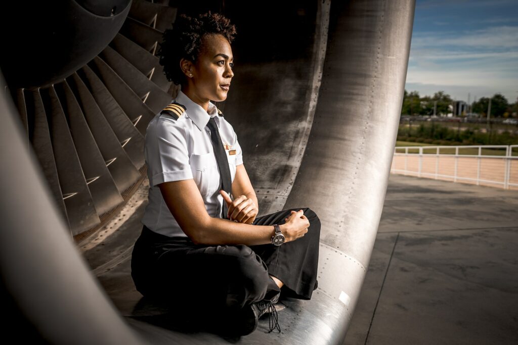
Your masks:
{"label": "woman pilot in uniform sitting cross-legged inside the jet engine", "polygon": [[316,289],[320,220],[309,208],[257,217],[236,133],[211,102],[227,97],[235,34],[210,12],[164,33],[160,63],[181,91],[147,127],[149,203],[131,274],[142,295],[216,332],[250,334],[265,313],[280,332],[280,293]]}

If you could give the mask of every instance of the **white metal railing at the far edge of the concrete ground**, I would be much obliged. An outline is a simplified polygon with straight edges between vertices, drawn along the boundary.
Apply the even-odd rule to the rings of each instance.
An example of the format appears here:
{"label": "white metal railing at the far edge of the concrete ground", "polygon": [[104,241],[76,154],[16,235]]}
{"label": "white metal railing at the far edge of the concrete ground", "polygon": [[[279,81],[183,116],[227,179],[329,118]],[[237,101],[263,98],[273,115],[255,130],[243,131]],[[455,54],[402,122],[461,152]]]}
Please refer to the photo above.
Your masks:
{"label": "white metal railing at the far edge of the concrete ground", "polygon": [[391,173],[518,189],[518,145],[396,146]]}

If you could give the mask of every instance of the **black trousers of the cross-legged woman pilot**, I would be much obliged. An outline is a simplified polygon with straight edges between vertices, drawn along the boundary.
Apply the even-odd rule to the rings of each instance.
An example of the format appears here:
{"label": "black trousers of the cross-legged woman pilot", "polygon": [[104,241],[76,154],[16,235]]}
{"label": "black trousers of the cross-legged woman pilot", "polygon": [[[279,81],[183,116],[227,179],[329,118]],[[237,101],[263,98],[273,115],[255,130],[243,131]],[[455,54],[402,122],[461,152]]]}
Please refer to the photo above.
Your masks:
{"label": "black trousers of the cross-legged woman pilot", "polygon": [[[320,220],[311,209],[303,210],[308,232],[281,246],[194,245],[189,238],[172,238],[144,226],[132,253],[135,287],[144,296],[189,308],[242,308],[279,291],[310,299],[317,286]],[[290,211],[256,218],[253,224],[282,224]],[[270,275],[284,282],[281,290]]]}

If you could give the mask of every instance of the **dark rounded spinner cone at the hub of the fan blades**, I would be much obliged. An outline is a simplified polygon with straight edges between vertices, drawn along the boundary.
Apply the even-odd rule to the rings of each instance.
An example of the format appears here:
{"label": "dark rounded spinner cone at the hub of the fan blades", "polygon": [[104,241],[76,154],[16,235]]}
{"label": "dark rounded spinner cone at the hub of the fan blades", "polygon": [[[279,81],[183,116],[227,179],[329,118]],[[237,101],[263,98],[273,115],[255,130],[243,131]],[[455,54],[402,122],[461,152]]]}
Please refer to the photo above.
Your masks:
{"label": "dark rounded spinner cone at the hub of the fan blades", "polygon": [[48,87],[68,77],[120,31],[131,4],[131,0],[3,2],[0,65],[9,87]]}

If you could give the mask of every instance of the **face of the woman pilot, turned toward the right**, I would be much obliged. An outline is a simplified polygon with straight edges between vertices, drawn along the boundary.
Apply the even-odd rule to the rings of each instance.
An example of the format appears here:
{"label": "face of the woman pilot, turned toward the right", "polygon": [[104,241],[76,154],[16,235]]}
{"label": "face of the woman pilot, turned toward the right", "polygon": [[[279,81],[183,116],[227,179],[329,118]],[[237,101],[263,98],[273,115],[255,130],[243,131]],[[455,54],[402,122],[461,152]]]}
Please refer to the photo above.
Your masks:
{"label": "face of the woman pilot, turned toward the right", "polygon": [[[192,77],[188,77],[189,88],[202,101],[223,101],[234,73],[234,57],[230,43],[223,35],[207,35],[195,64]],[[189,76],[189,74],[187,74]]]}

